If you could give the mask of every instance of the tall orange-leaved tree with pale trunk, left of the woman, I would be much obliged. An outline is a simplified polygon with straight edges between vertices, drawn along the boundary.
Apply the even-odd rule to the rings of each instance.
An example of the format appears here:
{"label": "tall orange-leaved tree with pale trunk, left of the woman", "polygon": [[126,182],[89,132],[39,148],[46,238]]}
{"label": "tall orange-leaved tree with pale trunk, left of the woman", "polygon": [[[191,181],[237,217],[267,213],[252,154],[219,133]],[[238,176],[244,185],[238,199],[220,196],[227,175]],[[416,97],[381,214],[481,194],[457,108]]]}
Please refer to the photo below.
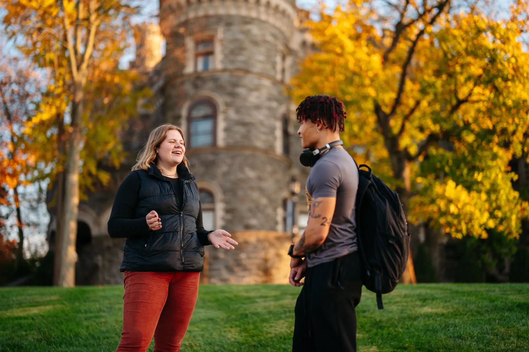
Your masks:
{"label": "tall orange-leaved tree with pale trunk, left of the woman", "polygon": [[59,172],[51,175],[52,180],[59,176],[54,282],[72,286],[80,191],[108,179],[97,168],[99,162],[120,163],[124,153],[118,137],[146,94],[135,90],[139,77],[134,71],[118,68],[137,8],[110,0],[0,3],[10,37],[22,37],[21,52],[49,72],[47,91],[30,126],[31,145],[46,148],[43,155]]}

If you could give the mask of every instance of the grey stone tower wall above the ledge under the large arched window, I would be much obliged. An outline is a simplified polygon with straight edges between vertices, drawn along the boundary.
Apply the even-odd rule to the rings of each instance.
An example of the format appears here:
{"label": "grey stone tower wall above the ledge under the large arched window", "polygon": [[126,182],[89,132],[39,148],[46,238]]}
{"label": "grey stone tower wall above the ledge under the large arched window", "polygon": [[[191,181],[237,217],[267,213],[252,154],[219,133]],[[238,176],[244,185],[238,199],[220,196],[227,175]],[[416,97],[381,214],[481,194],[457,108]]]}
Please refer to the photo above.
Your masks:
{"label": "grey stone tower wall above the ledge under the large arched window", "polygon": [[276,121],[281,108],[289,103],[284,85],[276,80],[279,45],[286,45],[287,41],[278,28],[241,16],[188,21],[183,33],[171,34],[172,49],[168,49],[164,64],[181,68],[175,63],[185,56],[182,53],[185,35],[214,32],[218,26],[223,27],[223,69],[182,76],[181,72],[167,68],[171,74],[166,86],[166,120],[183,125],[182,115],[187,114],[182,111],[185,103],[199,98],[201,92],[213,92],[221,96],[225,106],[222,111],[225,145],[273,150]]}

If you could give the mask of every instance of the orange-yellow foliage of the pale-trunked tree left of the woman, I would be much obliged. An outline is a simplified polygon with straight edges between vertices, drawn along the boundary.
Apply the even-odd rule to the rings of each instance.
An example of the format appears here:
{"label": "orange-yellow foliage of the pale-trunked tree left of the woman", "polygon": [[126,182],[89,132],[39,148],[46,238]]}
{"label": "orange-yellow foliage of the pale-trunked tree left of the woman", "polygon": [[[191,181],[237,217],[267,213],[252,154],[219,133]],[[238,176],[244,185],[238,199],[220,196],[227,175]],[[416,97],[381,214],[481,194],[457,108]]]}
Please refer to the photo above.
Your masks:
{"label": "orange-yellow foliage of the pale-trunked tree left of the woman", "polygon": [[[81,20],[76,22],[77,0],[0,0],[0,7],[6,10],[3,21],[9,24],[6,28],[8,35],[23,37],[21,52],[47,72],[45,92],[23,130],[27,137],[25,152],[34,155],[28,160],[53,166],[39,169],[40,177],[53,179],[56,172],[63,169],[64,156],[58,150],[58,131],[62,129],[61,123],[75,93],[71,55],[83,56],[91,21],[87,17],[88,2],[82,3],[85,6],[80,8]],[[93,22],[98,24],[94,51],[88,57],[86,84],[82,87],[85,96],[82,125],[86,128],[83,129],[85,142],[81,151],[81,193],[93,184],[107,182],[106,174],[97,169],[102,159],[109,165],[121,163],[125,153],[119,137],[127,126],[126,121],[137,115],[138,100],[149,96],[148,90],[135,90],[141,79],[138,73],[118,68],[124,50],[130,45],[130,16],[136,9],[123,1],[102,0],[98,3],[101,7],[92,12],[98,16]],[[66,18],[66,24],[63,18]],[[80,31],[75,31],[76,25]],[[67,40],[68,33],[71,38]],[[80,45],[76,45],[76,41]],[[72,51],[68,49],[68,43],[73,46],[69,47]],[[77,61],[80,65],[83,60],[79,57]],[[63,129],[65,135],[61,138],[65,140],[71,126],[66,124]]]}

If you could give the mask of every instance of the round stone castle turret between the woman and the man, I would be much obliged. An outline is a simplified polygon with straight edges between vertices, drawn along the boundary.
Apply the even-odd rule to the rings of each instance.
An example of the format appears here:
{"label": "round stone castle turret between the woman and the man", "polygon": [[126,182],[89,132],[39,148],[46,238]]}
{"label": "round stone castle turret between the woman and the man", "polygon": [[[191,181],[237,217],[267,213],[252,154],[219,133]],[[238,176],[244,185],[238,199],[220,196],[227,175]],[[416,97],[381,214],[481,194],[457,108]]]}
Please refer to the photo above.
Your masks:
{"label": "round stone castle turret between the woman and the man", "polygon": [[240,242],[209,251],[209,282],[286,282],[293,121],[285,84],[299,38],[287,0],[160,1],[164,114],[183,128],[205,224]]}

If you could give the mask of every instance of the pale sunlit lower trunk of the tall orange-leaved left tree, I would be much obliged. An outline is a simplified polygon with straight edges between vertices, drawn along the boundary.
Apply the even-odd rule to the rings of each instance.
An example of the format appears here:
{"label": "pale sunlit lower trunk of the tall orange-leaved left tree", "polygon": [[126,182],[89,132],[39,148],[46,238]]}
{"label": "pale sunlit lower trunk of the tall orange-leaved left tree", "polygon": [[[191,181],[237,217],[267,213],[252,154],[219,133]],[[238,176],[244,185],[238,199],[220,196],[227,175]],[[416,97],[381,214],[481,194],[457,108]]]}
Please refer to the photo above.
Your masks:
{"label": "pale sunlit lower trunk of the tall orange-leaved left tree", "polygon": [[81,122],[83,114],[83,94],[76,89],[72,102],[71,134],[68,143],[68,157],[65,172],[65,193],[63,212],[60,214],[61,234],[58,237],[60,247],[59,280],[63,287],[75,286],[75,262],[77,239],[77,214],[79,210],[79,160],[81,151]]}

